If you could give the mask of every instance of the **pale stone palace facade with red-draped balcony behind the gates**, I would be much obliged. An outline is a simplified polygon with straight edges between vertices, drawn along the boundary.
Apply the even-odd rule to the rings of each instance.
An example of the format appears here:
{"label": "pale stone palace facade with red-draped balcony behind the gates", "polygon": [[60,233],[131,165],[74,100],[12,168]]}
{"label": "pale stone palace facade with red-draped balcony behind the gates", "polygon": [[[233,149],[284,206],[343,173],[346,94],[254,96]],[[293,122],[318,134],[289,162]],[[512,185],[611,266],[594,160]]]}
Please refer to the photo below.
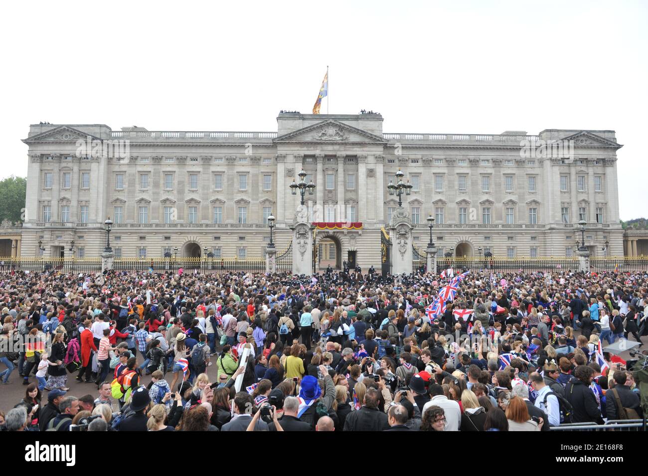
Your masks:
{"label": "pale stone palace facade with red-draped balcony behind the gates", "polygon": [[[400,169],[412,186],[402,206],[419,223],[414,243],[426,247],[432,215],[439,256],[570,256],[579,220],[593,256],[623,254],[614,131],[383,133],[382,122],[371,112],[282,111],[272,132],[34,124],[23,140],[20,253],[98,256],[110,216],[117,257],[263,256],[270,214],[281,251],[301,201],[290,185],[303,170],[316,185],[305,203],[319,225],[319,266],[353,254],[364,269],[378,267],[381,228],[398,206],[387,185]],[[537,153],[554,141],[568,142],[568,153]]]}

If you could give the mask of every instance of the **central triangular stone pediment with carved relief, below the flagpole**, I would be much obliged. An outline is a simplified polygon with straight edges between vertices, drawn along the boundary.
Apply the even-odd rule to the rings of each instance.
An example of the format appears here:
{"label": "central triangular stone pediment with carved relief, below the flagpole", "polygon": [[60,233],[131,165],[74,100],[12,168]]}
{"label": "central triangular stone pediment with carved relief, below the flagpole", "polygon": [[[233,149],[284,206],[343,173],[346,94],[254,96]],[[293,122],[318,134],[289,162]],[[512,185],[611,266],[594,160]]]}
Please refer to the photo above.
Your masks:
{"label": "central triangular stone pediment with carved relief, below the flagpole", "polygon": [[281,135],[273,142],[325,142],[325,143],[380,143],[387,141],[380,135],[375,135],[362,129],[354,128],[337,120],[329,119],[305,128]]}

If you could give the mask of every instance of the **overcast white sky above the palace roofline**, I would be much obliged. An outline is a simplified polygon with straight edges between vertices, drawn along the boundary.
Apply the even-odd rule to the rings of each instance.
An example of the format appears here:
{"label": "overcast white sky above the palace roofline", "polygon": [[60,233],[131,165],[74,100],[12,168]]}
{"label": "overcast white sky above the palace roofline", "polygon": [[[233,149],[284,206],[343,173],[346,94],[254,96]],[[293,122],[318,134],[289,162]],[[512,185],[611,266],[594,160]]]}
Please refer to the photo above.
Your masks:
{"label": "overcast white sky above the palace roofline", "polygon": [[27,175],[41,120],[276,131],[329,65],[330,113],[386,132],[616,130],[621,218],[646,215],[648,2],[30,1],[0,22],[1,177]]}

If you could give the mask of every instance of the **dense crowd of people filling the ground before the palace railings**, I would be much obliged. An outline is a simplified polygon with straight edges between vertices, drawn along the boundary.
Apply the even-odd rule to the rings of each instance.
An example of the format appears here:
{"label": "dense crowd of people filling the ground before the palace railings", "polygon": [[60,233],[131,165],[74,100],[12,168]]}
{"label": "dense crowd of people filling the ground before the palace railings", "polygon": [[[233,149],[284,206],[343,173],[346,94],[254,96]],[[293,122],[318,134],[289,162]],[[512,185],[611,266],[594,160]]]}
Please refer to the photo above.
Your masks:
{"label": "dense crowd of people filling the ground before the palace railings", "polygon": [[643,345],[647,273],[12,272],[0,297],[0,379],[25,386],[6,431],[549,431],[647,407],[648,371],[603,350]]}

